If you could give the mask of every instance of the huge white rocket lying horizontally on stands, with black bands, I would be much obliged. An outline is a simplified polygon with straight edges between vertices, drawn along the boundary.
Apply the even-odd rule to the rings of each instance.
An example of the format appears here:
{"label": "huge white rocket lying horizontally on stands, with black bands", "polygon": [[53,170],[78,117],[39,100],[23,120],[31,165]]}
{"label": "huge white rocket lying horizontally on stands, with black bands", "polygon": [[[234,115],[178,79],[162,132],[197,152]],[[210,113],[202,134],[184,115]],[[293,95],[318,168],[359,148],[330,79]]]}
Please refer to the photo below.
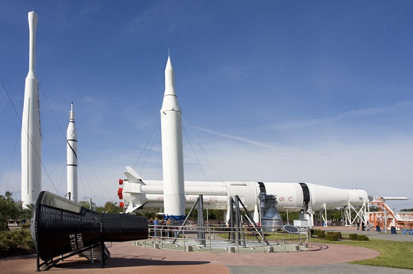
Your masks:
{"label": "huge white rocket lying horizontally on stands, with black bands", "polygon": [[[122,188],[118,193],[123,198],[126,213],[141,208],[161,208],[165,196],[162,181],[142,180],[132,169],[127,167],[126,178],[120,180]],[[345,207],[361,207],[372,200],[366,191],[361,189],[337,189],[323,185],[304,182],[185,182],[185,207],[190,208],[200,194],[204,198],[205,209],[227,210],[229,198],[239,196],[246,209],[253,211],[260,207],[260,193],[273,194],[277,198],[277,210],[280,212],[299,212],[301,210],[331,209]]]}

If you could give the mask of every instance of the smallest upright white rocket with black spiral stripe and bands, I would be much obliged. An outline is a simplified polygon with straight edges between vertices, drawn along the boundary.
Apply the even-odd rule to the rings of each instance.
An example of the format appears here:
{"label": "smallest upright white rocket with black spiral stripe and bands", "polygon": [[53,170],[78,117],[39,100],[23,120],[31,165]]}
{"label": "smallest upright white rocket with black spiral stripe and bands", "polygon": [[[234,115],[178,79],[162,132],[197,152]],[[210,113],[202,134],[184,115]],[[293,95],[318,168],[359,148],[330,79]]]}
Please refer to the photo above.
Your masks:
{"label": "smallest upright white rocket with black spiral stripe and bands", "polygon": [[69,112],[69,125],[67,126],[67,198],[78,202],[77,182],[77,130],[74,125],[73,103]]}

